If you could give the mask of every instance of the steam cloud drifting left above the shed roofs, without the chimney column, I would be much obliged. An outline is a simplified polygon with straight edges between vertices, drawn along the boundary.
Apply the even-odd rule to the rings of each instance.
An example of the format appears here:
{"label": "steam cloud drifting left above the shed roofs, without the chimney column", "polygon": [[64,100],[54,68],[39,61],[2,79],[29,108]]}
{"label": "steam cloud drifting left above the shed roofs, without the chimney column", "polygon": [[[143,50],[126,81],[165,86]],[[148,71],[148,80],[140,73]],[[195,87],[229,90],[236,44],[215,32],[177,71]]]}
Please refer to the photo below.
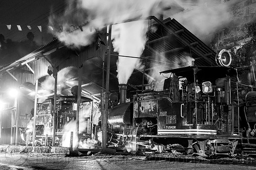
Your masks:
{"label": "steam cloud drifting left above the shed roofs, without the chimney column", "polygon": [[[69,0],[67,4],[68,8],[62,16],[50,16],[49,25],[64,25],[62,32],[54,30],[54,34],[66,45],[75,47],[90,44],[95,29],[141,16],[158,14],[164,6],[162,1],[158,0]],[[83,23],[83,31],[77,29],[70,32],[73,27],[69,26]]]}

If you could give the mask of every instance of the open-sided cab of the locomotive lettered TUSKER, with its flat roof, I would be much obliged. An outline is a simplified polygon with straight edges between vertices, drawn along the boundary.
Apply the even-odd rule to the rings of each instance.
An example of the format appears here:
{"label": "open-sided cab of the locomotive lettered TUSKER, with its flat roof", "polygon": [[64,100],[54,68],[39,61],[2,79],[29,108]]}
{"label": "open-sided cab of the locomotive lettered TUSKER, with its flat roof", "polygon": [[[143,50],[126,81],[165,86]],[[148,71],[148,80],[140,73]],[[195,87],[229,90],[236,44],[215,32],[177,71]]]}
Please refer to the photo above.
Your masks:
{"label": "open-sided cab of the locomotive lettered TUSKER, with its flat roof", "polygon": [[169,102],[174,107],[160,111],[159,134],[233,135],[231,77],[237,75],[235,69],[188,66],[161,73],[169,72],[173,74]]}

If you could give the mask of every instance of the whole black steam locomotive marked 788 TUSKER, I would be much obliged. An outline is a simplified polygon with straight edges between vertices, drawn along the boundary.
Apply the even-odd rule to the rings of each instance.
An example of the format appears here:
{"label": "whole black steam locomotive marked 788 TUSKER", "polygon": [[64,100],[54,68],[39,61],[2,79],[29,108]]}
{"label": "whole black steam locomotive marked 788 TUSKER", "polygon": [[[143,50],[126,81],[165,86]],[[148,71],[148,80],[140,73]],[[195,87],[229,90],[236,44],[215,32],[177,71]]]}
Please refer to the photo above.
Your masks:
{"label": "whole black steam locomotive marked 788 TUSKER", "polygon": [[120,104],[108,119],[108,146],[200,156],[234,155],[255,146],[256,92],[240,103],[237,69],[229,64],[162,71],[171,74],[162,91],[147,87],[127,103],[127,85],[120,84]]}

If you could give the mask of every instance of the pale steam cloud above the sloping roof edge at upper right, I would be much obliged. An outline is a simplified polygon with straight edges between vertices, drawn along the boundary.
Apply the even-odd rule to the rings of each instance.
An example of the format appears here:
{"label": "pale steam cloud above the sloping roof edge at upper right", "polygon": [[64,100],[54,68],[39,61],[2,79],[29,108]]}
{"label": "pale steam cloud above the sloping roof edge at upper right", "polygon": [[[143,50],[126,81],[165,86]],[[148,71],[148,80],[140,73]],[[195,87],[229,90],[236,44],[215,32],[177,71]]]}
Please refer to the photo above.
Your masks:
{"label": "pale steam cloud above the sloping roof edge at upper right", "polygon": [[[189,1],[193,3],[193,1]],[[230,3],[216,3],[216,1],[195,1],[194,9],[178,13],[172,17],[178,20],[186,29],[199,39],[208,43],[212,35],[229,25],[232,20]],[[182,2],[179,2],[180,5]]]}

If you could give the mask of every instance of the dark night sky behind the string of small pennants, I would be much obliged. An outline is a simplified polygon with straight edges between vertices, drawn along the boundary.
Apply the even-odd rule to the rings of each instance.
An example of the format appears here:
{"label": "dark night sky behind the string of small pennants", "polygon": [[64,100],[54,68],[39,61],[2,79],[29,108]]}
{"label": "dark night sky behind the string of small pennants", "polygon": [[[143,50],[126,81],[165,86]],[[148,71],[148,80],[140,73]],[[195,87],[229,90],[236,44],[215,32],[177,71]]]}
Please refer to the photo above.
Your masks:
{"label": "dark night sky behind the string of small pennants", "polygon": [[[49,33],[48,17],[51,13],[58,14],[65,8],[63,0],[1,0],[0,34],[3,34],[6,40],[20,42],[26,40],[26,35],[31,31],[36,43],[44,45],[53,38]],[[12,25],[11,30],[8,30],[6,25]],[[18,31],[17,25],[22,27],[22,31]],[[32,30],[27,28],[29,25]],[[42,32],[37,26],[42,26]]]}

